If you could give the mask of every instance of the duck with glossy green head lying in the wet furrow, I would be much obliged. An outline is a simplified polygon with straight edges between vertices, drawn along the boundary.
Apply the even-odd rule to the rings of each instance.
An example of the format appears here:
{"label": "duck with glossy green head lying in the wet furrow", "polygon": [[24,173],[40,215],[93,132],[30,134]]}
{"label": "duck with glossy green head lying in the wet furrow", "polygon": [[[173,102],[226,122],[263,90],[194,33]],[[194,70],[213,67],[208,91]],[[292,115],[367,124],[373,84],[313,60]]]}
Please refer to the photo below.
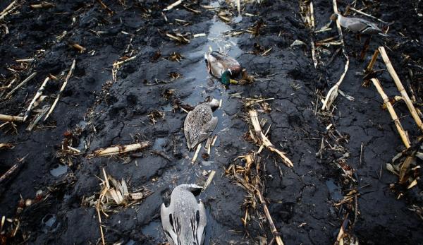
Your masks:
{"label": "duck with glossy green head lying in the wet furrow", "polygon": [[236,59],[216,51],[206,52],[206,54],[204,54],[204,58],[206,59],[209,73],[216,78],[221,78],[221,83],[224,85],[238,83],[237,81],[231,79],[238,76],[242,70]]}

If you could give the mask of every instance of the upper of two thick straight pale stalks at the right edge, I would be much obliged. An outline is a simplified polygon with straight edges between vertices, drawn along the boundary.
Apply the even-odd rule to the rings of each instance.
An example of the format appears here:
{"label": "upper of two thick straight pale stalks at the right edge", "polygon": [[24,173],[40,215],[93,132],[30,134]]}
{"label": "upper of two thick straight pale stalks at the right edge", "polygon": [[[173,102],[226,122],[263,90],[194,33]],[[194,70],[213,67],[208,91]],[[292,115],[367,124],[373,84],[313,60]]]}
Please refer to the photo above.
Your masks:
{"label": "upper of two thick straight pale stalks at the right edge", "polygon": [[407,92],[404,89],[403,83],[401,83],[400,78],[398,78],[397,73],[395,72],[395,69],[393,68],[391,61],[388,58],[388,54],[386,54],[384,47],[379,47],[379,52],[381,53],[382,59],[384,59],[384,62],[386,64],[386,68],[388,68],[389,74],[391,74],[391,77],[393,78],[393,81],[395,82],[398,91],[400,91],[401,96],[403,97],[403,100],[405,104],[407,104],[408,110],[410,110],[410,113],[412,115],[412,118],[415,119],[417,126],[421,131],[423,131],[423,123],[422,119],[420,119],[419,114],[417,114],[416,109],[414,105],[412,104],[410,97],[408,97]]}

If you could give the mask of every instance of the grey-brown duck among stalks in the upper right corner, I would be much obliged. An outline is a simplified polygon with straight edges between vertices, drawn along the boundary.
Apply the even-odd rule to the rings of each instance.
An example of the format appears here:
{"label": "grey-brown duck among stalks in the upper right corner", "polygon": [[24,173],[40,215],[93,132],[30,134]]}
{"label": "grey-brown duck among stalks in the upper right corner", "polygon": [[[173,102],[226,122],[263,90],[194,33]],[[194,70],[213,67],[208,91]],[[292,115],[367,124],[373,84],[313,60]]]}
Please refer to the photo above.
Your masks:
{"label": "grey-brown duck among stalks in the upper right corner", "polygon": [[344,17],[339,13],[333,13],[331,15],[331,20],[336,21],[339,20],[339,23],[343,28],[347,28],[348,30],[358,33],[358,34],[379,34],[386,36],[386,34],[375,24],[368,20],[364,20],[361,18],[349,18]]}

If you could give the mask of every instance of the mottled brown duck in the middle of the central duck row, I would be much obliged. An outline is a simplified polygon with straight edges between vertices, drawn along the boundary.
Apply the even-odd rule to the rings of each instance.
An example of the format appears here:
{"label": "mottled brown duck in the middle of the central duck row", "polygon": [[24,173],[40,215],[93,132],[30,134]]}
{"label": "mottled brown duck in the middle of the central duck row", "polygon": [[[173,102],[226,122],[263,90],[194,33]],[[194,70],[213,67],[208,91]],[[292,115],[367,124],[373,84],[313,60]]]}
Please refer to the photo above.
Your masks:
{"label": "mottled brown duck in the middle of the central duck row", "polygon": [[219,107],[219,101],[216,99],[199,104],[188,113],[183,124],[188,149],[191,150],[198,143],[206,140],[216,128],[218,119],[213,116],[212,108],[214,107]]}

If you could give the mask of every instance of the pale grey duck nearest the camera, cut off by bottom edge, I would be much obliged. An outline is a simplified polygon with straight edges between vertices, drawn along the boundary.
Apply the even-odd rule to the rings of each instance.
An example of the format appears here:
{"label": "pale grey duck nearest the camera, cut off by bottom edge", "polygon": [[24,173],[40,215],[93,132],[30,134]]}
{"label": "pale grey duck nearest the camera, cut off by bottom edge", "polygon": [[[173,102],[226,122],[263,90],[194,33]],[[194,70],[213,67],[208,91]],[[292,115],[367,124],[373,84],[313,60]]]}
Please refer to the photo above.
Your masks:
{"label": "pale grey duck nearest the camera, cut off by bottom edge", "polygon": [[161,226],[170,245],[201,245],[207,225],[206,209],[191,191],[202,189],[195,184],[181,184],[173,189],[171,203],[161,204]]}

